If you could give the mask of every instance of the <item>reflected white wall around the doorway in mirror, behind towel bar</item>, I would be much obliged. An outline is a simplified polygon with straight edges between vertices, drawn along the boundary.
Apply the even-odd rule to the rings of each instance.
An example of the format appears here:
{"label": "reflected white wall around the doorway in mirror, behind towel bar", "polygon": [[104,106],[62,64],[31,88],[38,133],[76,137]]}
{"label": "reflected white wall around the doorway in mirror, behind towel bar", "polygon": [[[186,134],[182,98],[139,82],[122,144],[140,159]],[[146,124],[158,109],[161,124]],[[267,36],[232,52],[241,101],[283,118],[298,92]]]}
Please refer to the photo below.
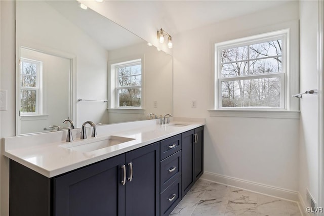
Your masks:
{"label": "reflected white wall around the doorway in mirror, behind towel bar", "polygon": [[[17,2],[17,45],[75,56],[76,99],[107,99],[108,52],[46,2]],[[74,103],[77,127],[87,120],[107,123],[106,103]]]}

